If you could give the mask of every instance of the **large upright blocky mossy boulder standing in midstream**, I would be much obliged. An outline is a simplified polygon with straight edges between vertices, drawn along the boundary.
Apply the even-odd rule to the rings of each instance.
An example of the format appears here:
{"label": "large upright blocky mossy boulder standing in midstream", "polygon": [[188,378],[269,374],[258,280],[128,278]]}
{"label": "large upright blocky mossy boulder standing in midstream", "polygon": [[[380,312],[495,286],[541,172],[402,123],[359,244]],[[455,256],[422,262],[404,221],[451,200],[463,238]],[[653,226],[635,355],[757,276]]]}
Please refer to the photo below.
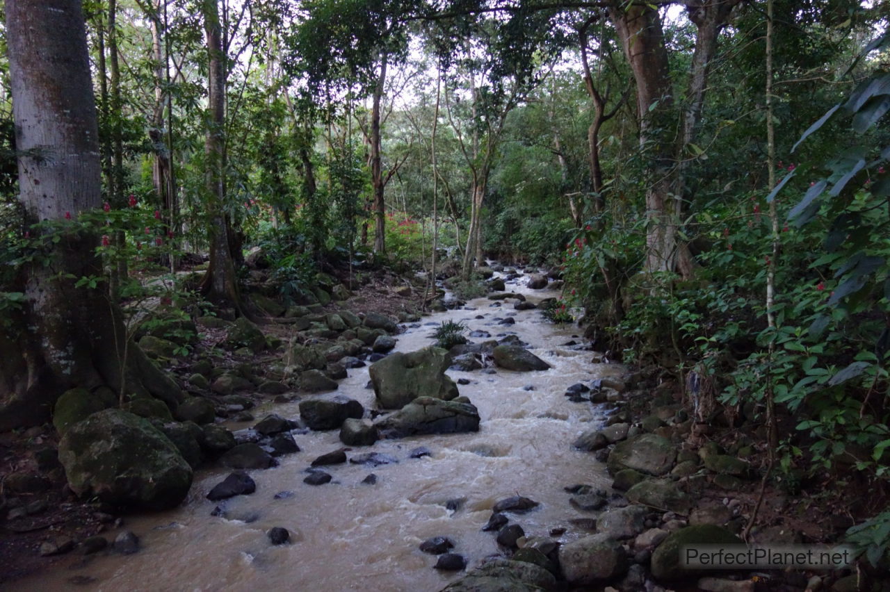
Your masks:
{"label": "large upright blocky mossy boulder standing in midstream", "polygon": [[451,356],[442,348],[396,352],[368,369],[377,402],[384,409],[401,409],[418,396],[443,401],[457,398],[457,385],[445,374]]}

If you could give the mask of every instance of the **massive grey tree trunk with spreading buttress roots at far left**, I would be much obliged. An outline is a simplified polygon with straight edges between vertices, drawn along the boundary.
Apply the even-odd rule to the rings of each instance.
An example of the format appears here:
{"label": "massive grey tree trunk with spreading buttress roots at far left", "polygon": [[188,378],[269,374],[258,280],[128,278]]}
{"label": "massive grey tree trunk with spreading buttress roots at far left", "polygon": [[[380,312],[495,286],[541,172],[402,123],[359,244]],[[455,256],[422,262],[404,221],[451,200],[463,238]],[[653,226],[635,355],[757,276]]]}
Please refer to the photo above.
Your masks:
{"label": "massive grey tree trunk with spreading buttress roots at far left", "polygon": [[[25,302],[0,323],[0,430],[46,420],[67,388],[153,395],[171,408],[182,392],[129,342],[100,276],[97,236],[77,214],[98,208],[100,155],[93,84],[79,0],[7,0],[20,201],[29,222],[69,228],[20,269]],[[36,234],[36,230],[31,231]],[[45,264],[44,264],[45,263]]]}

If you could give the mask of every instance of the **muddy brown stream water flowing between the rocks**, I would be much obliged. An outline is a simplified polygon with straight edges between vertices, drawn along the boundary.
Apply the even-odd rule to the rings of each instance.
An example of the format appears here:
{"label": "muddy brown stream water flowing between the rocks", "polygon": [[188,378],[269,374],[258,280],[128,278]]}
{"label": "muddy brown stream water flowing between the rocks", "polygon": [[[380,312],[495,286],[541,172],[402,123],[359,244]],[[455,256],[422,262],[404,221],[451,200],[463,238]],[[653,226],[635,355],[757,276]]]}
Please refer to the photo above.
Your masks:
{"label": "muddy brown stream water flowing between the rocks", "polygon": [[[508,284],[538,301],[554,292],[529,291]],[[413,351],[433,343],[434,326],[463,321],[470,330],[492,337],[514,332],[531,350],[551,364],[543,372],[497,373],[449,371],[481,416],[475,434],[416,436],[356,447],[349,456],[383,452],[398,463],[369,468],[346,464],[328,468],[334,482],[303,484],[305,468],[320,454],[340,448],[337,430],[295,434],[301,452],[279,457],[277,468],[251,471],[256,492],[228,500],[226,518],[211,516],[216,503],[206,493],[227,470],[199,471],[189,497],[174,510],[126,519],[125,527],[138,534],[142,550],[132,556],[71,556],[68,565],[16,582],[12,589],[71,589],[72,578],[84,590],[439,590],[460,573],[433,569],[436,557],[418,545],[433,536],[455,542],[454,552],[465,556],[468,569],[498,549],[495,533],[481,532],[492,506],[506,497],[524,495],[540,502],[530,513],[511,516],[527,536],[547,536],[554,527],[567,529],[559,540],[586,535],[571,524],[573,518],[593,515],[570,506],[563,487],[591,484],[608,489],[602,463],[587,452],[572,450],[571,442],[603,420],[590,404],[571,403],[565,389],[624,372],[619,364],[593,364],[589,351],[565,346],[577,327],[549,324],[538,310],[515,311],[512,303],[491,307],[490,300],[467,303],[469,309],[425,316],[421,326],[398,335],[397,349]],[[515,314],[516,324],[503,326],[496,317]],[[481,319],[476,316],[483,316]],[[480,340],[480,339],[474,339]],[[578,340],[580,341],[580,340]],[[351,370],[336,393],[372,407],[374,393],[365,388],[368,369]],[[527,390],[527,387],[533,390]],[[323,395],[325,396],[325,395]],[[255,410],[297,417],[297,403],[269,404]],[[232,424],[237,429],[244,425]],[[409,459],[409,451],[425,446],[432,455]],[[361,484],[369,473],[375,485]],[[279,492],[289,497],[276,499]],[[463,500],[457,510],[449,500]],[[266,532],[283,526],[290,544],[272,546]],[[109,533],[113,538],[115,533]]]}

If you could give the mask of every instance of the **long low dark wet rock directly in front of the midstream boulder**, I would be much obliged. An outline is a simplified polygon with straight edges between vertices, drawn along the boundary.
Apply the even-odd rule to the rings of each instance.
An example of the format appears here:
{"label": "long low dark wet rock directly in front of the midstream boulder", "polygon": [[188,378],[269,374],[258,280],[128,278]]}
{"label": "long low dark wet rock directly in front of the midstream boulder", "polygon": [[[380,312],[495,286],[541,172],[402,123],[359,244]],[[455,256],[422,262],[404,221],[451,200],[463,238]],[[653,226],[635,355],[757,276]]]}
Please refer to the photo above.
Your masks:
{"label": "long low dark wet rock directly in front of the midstream boulder", "polygon": [[376,423],[388,437],[479,431],[479,412],[469,403],[421,396]]}

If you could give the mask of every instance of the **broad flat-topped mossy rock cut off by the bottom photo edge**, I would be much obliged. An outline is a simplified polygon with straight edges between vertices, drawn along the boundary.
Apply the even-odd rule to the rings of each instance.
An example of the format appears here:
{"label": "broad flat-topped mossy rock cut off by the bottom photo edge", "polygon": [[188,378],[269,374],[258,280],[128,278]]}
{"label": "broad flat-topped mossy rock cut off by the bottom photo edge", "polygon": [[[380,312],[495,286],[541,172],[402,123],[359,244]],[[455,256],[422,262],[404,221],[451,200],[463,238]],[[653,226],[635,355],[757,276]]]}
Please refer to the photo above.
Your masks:
{"label": "broad flat-topped mossy rock cut off by the bottom photo edge", "polygon": [[452,582],[441,592],[539,592],[555,587],[554,575],[543,567],[495,559]]}

